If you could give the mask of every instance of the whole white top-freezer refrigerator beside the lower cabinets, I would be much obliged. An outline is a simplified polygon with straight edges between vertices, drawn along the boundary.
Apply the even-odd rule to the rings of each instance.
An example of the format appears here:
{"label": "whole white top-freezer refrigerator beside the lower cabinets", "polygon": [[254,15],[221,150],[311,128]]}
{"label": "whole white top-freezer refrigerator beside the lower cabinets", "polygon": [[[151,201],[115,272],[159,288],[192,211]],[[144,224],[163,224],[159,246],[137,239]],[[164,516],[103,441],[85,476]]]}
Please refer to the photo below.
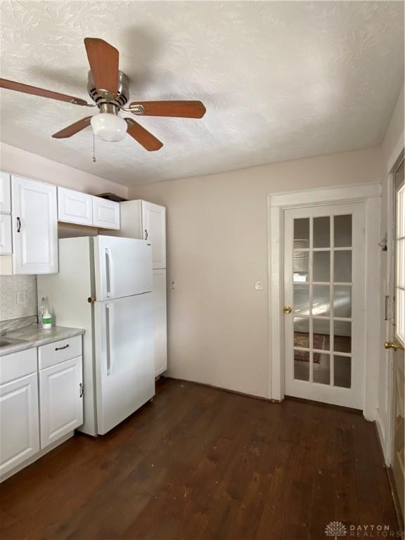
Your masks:
{"label": "whole white top-freezer refrigerator beside the lower cabinets", "polygon": [[57,326],[84,328],[84,424],[103,435],[155,394],[152,249],[146,240],[59,240],[59,273],[38,278]]}

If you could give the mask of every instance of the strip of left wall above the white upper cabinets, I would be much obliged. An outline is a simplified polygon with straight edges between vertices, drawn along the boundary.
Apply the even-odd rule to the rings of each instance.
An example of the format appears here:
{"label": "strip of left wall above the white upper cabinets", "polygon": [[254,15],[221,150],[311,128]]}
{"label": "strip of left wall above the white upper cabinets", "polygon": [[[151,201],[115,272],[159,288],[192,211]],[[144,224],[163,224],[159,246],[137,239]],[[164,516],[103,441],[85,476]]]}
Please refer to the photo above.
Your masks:
{"label": "strip of left wall above the white upper cabinets", "polygon": [[110,191],[124,198],[128,196],[126,186],[1,142],[0,169],[92,195]]}

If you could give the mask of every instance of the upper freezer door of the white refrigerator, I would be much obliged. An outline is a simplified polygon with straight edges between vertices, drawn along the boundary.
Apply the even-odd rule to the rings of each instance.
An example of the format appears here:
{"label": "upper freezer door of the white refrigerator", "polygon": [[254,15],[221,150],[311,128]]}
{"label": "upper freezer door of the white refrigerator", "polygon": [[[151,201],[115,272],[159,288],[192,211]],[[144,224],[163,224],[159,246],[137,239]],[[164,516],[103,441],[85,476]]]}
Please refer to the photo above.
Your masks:
{"label": "upper freezer door of the white refrigerator", "polygon": [[99,301],[153,289],[152,247],[146,240],[95,236],[94,266]]}

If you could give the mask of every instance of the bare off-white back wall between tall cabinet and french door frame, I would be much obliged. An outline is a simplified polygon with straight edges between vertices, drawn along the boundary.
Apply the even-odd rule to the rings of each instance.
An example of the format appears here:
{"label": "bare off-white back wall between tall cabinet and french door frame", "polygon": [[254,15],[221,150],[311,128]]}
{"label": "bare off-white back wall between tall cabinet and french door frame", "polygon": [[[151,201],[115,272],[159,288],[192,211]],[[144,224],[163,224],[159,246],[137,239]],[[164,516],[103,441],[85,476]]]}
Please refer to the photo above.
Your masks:
{"label": "bare off-white back wall between tall cabinet and french door frame", "polygon": [[131,188],[167,207],[169,375],[266,397],[266,194],[384,176],[379,147]]}

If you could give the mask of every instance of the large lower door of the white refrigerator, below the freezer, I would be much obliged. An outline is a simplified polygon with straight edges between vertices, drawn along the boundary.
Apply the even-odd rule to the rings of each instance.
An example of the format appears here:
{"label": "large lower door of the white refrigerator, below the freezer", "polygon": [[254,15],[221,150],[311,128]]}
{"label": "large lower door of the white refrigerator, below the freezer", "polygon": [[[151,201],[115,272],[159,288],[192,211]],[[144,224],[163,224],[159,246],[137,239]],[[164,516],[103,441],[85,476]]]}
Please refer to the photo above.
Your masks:
{"label": "large lower door of the white refrigerator, below the freezer", "polygon": [[152,293],[96,302],[97,425],[103,435],[155,394]]}

